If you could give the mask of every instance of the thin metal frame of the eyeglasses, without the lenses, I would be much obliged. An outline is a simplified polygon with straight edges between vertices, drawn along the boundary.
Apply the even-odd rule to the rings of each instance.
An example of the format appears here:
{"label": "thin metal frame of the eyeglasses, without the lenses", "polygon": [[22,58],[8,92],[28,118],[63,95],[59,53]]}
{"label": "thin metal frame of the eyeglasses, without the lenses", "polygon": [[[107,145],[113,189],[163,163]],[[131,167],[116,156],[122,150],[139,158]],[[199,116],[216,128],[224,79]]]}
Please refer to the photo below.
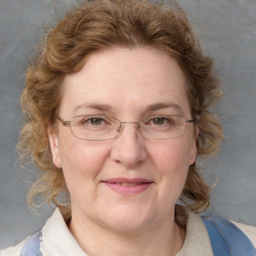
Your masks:
{"label": "thin metal frame of the eyeglasses, without the lenses", "polygon": [[[77,136],[74,135],[74,133],[73,133],[73,131],[71,129],[71,120],[73,118],[80,117],[80,116],[98,116],[98,115],[99,116],[104,116],[104,117],[110,117],[110,118],[113,118],[113,119],[115,119],[115,120],[120,122],[119,127],[117,127],[117,129],[116,129],[117,134],[114,137],[112,137],[112,138],[104,138],[104,139],[90,139],[90,138],[80,138],[80,137],[77,137]],[[76,137],[76,138],[79,138],[79,139],[82,139],[82,140],[103,141],[103,140],[110,140],[110,139],[116,138],[118,136],[118,134],[121,132],[121,125],[122,125],[122,123],[137,123],[138,126],[140,127],[139,121],[141,119],[148,118],[148,117],[154,117],[154,116],[156,116],[156,117],[157,116],[179,116],[179,117],[182,117],[185,120],[185,123],[186,122],[188,122],[188,123],[194,122],[194,119],[185,119],[185,117],[183,117],[182,115],[177,115],[177,114],[147,115],[147,116],[144,116],[144,117],[140,118],[138,121],[120,121],[119,119],[117,119],[117,118],[115,118],[115,117],[113,117],[111,115],[105,115],[105,114],[82,114],[82,115],[76,115],[76,116],[73,116],[69,121],[63,121],[60,117],[57,117],[56,119],[58,121],[60,121],[63,126],[70,126],[70,131],[73,134],[73,136]],[[184,131],[185,131],[185,127],[186,127],[186,125],[184,126]],[[175,137],[171,137],[171,138],[176,138],[176,137],[182,136],[184,134],[184,131],[179,136],[175,136]],[[145,136],[142,135],[140,129],[139,129],[139,133],[141,134],[142,137],[147,138],[147,139],[171,139],[171,138],[148,138],[148,137],[145,137]]]}

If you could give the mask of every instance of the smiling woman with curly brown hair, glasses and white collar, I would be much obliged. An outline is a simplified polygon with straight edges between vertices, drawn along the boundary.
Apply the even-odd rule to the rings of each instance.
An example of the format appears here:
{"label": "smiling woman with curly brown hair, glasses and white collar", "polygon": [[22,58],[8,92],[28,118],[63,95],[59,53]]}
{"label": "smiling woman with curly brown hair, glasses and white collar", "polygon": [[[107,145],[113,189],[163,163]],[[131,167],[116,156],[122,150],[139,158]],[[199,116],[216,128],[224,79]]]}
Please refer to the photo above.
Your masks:
{"label": "smiling woman with curly brown hair, glasses and white collar", "polygon": [[[2,255],[221,255],[226,238],[229,251],[255,254],[239,224],[195,214],[209,204],[195,160],[222,138],[213,68],[174,1],[67,12],[27,69],[18,145],[43,173],[28,204],[40,194],[57,208]],[[227,230],[215,242],[212,223]]]}

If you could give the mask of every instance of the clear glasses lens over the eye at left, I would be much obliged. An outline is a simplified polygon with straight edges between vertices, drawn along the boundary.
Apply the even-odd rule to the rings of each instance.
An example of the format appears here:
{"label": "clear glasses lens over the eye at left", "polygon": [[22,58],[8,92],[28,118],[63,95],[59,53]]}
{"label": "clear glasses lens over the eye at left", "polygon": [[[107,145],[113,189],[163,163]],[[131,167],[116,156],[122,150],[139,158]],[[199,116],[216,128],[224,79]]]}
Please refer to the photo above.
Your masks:
{"label": "clear glasses lens over the eye at left", "polygon": [[114,138],[120,121],[106,115],[75,116],[70,121],[73,135],[86,140],[106,140]]}

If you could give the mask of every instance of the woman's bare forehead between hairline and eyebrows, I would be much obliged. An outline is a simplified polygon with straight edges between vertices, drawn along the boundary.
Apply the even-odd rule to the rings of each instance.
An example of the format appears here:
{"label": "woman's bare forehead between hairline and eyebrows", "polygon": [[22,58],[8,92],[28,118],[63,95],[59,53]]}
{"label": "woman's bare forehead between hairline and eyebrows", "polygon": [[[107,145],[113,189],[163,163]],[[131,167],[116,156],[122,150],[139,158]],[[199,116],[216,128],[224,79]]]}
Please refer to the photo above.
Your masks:
{"label": "woman's bare forehead between hairline and eyebrows", "polygon": [[189,111],[182,70],[174,58],[160,50],[94,52],[79,72],[65,77],[63,85],[60,112],[70,117],[92,105],[101,105],[107,113],[139,112],[153,104]]}

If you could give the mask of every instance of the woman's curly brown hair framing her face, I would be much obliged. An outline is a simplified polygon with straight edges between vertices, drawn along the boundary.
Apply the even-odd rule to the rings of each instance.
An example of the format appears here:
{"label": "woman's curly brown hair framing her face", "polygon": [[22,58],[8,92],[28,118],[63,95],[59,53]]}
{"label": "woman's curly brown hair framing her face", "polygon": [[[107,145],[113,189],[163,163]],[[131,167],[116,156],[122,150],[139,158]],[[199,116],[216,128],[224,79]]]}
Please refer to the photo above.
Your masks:
{"label": "woman's curly brown hair framing her face", "polygon": [[[27,195],[63,206],[59,194],[68,190],[61,168],[52,162],[48,130],[54,132],[66,74],[79,71],[86,56],[110,47],[149,47],[164,50],[179,63],[187,81],[191,114],[199,128],[197,158],[212,156],[222,138],[221,124],[210,112],[222,96],[214,62],[204,56],[185,12],[174,0],[86,0],[70,9],[49,29],[25,73],[21,107],[27,123],[18,143],[21,162],[32,158],[41,170]],[[180,200],[194,212],[209,204],[209,187],[197,163],[189,166]]]}

